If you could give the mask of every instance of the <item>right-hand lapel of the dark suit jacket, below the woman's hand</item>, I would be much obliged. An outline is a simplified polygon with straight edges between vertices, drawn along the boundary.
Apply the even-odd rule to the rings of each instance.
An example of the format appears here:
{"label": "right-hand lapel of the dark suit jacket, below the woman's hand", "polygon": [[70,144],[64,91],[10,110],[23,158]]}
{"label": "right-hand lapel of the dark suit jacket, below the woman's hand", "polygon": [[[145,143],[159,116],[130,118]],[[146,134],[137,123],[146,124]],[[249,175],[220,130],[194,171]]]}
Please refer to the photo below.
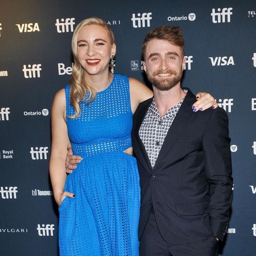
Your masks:
{"label": "right-hand lapel of the dark suit jacket, below the woman's hand", "polygon": [[166,154],[173,147],[174,143],[177,141],[184,128],[188,126],[190,120],[195,116],[192,115],[191,107],[192,104],[195,102],[196,98],[188,88],[184,89],[188,90],[187,95],[184,98],[184,102],[182,103],[181,108],[179,109],[176,117],[174,118],[173,123],[169,128],[169,131],[167,132],[166,138],[155,162],[154,171],[158,168],[159,164],[166,157]]}

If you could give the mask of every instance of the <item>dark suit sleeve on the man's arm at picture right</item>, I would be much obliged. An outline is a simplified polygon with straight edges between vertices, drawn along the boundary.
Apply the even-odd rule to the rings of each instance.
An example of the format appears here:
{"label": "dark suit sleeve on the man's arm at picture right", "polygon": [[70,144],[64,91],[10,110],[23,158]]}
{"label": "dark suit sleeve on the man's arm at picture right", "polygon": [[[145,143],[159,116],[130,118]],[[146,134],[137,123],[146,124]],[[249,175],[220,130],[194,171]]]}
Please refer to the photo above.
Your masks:
{"label": "dark suit sleeve on the man's arm at picture right", "polygon": [[213,235],[222,241],[230,218],[233,178],[228,117],[221,108],[214,110],[207,122],[203,153],[210,186],[210,226]]}

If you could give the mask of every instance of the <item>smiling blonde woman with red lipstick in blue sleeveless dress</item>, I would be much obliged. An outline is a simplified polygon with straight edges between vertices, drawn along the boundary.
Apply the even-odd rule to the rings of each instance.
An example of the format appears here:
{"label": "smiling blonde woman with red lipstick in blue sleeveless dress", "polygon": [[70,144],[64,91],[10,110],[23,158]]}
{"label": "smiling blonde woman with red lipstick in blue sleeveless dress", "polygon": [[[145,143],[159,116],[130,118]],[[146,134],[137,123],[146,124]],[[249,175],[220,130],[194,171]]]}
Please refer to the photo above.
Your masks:
{"label": "smiling blonde woman with red lipstick in blue sleeveless dress", "polygon": [[[109,73],[116,45],[101,19],[77,25],[72,51],[70,86],[56,93],[52,108],[50,176],[60,207],[60,255],[136,256],[140,189],[132,113],[152,92],[136,79]],[[70,141],[83,161],[67,177]]]}

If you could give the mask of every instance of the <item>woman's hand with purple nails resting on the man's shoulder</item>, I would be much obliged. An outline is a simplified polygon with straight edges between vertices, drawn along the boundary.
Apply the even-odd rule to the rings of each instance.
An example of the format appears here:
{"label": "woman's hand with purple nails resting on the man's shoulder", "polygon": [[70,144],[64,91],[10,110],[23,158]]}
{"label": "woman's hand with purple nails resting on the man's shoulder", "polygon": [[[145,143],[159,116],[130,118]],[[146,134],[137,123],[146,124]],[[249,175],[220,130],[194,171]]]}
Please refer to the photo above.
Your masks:
{"label": "woman's hand with purple nails resting on the man's shoulder", "polygon": [[193,112],[196,112],[198,110],[203,111],[209,108],[218,108],[218,104],[215,99],[211,96],[211,94],[208,94],[206,92],[197,93],[196,100],[197,102],[195,102],[192,106]]}

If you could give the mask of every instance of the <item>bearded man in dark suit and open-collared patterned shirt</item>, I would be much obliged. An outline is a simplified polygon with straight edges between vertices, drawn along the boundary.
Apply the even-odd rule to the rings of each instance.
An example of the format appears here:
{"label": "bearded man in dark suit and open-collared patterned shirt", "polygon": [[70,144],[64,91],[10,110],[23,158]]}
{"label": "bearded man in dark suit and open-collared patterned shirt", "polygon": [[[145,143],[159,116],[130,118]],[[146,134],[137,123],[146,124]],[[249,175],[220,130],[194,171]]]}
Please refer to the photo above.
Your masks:
{"label": "bearded man in dark suit and open-collared patterned shirt", "polygon": [[181,88],[184,39],[178,26],[151,30],[143,66],[154,97],[134,114],[141,207],[141,256],[215,256],[232,202],[226,112],[193,113],[195,96]]}

